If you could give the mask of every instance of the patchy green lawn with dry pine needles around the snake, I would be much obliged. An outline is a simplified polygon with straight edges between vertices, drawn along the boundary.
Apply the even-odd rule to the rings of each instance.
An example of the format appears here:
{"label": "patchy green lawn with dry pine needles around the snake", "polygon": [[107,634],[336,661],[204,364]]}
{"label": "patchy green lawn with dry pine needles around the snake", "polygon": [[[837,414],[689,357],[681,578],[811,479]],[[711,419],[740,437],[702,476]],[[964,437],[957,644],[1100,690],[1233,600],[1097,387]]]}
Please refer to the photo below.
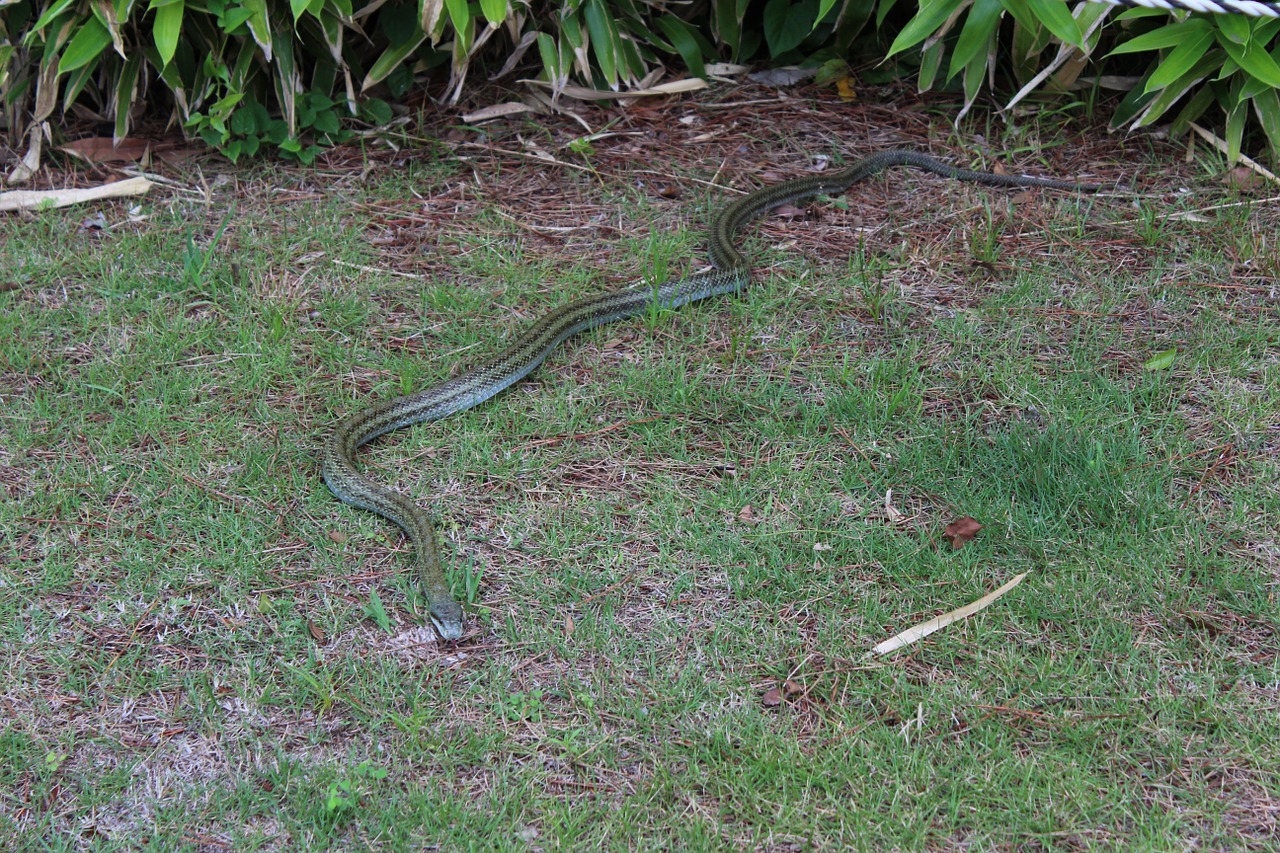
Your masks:
{"label": "patchy green lawn with dry pine needles around the snake", "polygon": [[[850,195],[861,232],[829,206],[754,228],[745,296],[584,336],[362,453],[439,519],[471,631],[431,642],[398,532],[333,500],[316,447],[572,296],[696,263],[723,196],[599,163],[504,210],[529,228],[448,161],[319,193],[246,172],[229,216],[221,190],[101,233],[6,222],[0,836],[1274,844],[1280,256],[1254,207],[904,173]],[[611,231],[538,231],[571,204]],[[951,551],[961,516],[984,529]]]}

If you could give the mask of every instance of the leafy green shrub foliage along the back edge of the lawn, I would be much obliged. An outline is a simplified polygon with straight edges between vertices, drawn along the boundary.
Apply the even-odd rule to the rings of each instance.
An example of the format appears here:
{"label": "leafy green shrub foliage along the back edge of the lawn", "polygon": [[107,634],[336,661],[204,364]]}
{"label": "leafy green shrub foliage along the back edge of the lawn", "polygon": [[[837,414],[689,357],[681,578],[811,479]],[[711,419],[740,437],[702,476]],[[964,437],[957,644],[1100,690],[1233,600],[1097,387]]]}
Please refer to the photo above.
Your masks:
{"label": "leafy green shrub foliage along the back edge of the lawn", "polygon": [[[966,111],[997,73],[1062,91],[1087,60],[1137,69],[1116,122],[1171,110],[1175,129],[1213,106],[1238,151],[1256,120],[1280,149],[1277,19],[1189,15],[1064,0],[0,0],[0,109],[17,137],[70,113],[128,134],[143,105],[232,159],[274,146],[308,161],[360,123],[392,119],[424,74],[456,102],[474,68],[536,78],[554,104],[572,81],[644,85],[677,61],[810,63],[855,47],[957,85]],[[858,41],[860,35],[868,36]],[[1110,49],[1110,53],[1106,53]],[[878,53],[876,53],[878,51]],[[484,61],[484,65],[481,65]]]}

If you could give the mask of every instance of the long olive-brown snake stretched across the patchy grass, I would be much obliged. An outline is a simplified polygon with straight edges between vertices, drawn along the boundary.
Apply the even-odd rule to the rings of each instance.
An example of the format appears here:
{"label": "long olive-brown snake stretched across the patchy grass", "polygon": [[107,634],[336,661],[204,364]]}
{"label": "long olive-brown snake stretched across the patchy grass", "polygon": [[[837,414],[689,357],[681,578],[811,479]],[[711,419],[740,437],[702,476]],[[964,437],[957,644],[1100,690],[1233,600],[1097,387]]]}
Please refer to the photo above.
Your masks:
{"label": "long olive-brown snake stretched across the patchy grass", "polygon": [[394,521],[413,546],[417,576],[426,598],[428,616],[444,640],[463,635],[462,606],[449,592],[440,565],[440,547],[430,516],[408,496],[369,480],[356,466],[356,451],[379,435],[411,424],[435,421],[489,400],[532,373],[567,338],[607,323],[643,315],[654,307],[676,309],[710,296],[736,293],[751,280],[746,257],[733,246],[733,236],[751,219],[783,204],[812,196],[838,195],[852,184],[891,167],[914,167],[950,178],[993,187],[1046,187],[1096,192],[1101,186],[993,174],[960,169],[925,154],[887,150],[851,165],[771,184],[727,205],[710,227],[712,268],[658,286],[634,286],[588,296],[544,314],[504,350],[475,368],[422,391],[383,400],[340,420],[321,450],[321,474],[329,491],[351,506]]}

